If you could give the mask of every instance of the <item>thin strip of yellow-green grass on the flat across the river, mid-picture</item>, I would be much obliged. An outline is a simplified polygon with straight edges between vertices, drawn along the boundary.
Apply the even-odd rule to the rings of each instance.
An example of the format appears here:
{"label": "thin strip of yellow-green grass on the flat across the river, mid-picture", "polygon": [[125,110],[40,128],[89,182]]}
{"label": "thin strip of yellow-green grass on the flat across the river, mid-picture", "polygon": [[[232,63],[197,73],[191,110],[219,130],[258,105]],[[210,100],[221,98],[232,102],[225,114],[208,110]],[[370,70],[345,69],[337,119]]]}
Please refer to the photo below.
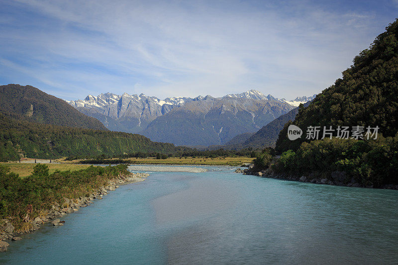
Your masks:
{"label": "thin strip of yellow-green grass on the flat across the river, mid-picture", "polygon": [[[204,157],[171,157],[167,159],[156,158],[127,158],[123,159],[131,161],[131,164],[164,164],[164,165],[226,165],[226,166],[240,166],[243,163],[251,163],[253,158],[249,157],[218,157],[218,158],[204,158]],[[69,163],[79,163],[79,160],[69,161]]]}

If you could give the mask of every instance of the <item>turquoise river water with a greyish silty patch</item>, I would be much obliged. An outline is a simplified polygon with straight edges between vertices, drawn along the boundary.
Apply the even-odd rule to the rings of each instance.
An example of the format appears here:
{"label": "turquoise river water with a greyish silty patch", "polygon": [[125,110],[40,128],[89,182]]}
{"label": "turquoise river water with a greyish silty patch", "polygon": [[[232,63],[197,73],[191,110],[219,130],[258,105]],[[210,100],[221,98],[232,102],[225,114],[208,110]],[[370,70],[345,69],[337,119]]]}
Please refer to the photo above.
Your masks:
{"label": "turquoise river water with a greyish silty patch", "polygon": [[0,253],[4,264],[396,264],[398,191],[233,173],[150,173],[65,225]]}

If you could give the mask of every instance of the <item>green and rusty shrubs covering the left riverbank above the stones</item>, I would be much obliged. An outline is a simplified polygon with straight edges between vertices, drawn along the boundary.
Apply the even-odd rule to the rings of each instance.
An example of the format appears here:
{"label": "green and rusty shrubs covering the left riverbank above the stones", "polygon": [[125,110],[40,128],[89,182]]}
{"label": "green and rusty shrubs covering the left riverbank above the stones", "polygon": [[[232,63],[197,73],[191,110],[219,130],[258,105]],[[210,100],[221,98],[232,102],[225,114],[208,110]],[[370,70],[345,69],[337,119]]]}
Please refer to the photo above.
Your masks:
{"label": "green and rusty shrubs covering the left riverbank above the stones", "polygon": [[16,230],[29,228],[29,220],[51,209],[63,198],[87,196],[119,174],[128,174],[126,165],[91,166],[79,171],[48,174],[46,165],[37,164],[29,177],[21,178],[0,165],[0,219],[8,218]]}

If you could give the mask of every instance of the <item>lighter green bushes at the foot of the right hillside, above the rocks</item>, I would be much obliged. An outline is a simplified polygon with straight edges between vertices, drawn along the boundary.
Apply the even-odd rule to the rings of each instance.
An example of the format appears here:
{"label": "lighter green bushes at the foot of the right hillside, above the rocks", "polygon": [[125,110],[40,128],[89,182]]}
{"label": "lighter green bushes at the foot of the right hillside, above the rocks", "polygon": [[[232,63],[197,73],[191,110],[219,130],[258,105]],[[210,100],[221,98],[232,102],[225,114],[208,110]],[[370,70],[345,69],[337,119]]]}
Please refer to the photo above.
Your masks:
{"label": "lighter green bushes at the foot of the right hillside, above the rocks", "polygon": [[279,173],[330,176],[344,171],[363,185],[398,184],[398,135],[377,140],[325,138],[288,150],[273,166]]}

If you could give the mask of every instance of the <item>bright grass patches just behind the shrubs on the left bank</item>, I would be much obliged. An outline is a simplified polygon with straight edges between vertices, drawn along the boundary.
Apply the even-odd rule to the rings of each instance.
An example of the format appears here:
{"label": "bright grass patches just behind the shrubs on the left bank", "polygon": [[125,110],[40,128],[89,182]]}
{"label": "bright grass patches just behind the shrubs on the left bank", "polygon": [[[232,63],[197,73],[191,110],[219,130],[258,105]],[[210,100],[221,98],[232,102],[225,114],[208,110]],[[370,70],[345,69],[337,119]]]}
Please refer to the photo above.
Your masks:
{"label": "bright grass patches just behind the shrubs on the left bank", "polygon": [[[34,163],[0,163],[0,165],[6,165],[10,167],[11,172],[19,174],[19,177],[27,177],[32,174],[33,167],[37,164]],[[47,164],[49,173],[52,174],[56,170],[81,170],[90,167],[90,165],[73,165],[73,164]]]}

